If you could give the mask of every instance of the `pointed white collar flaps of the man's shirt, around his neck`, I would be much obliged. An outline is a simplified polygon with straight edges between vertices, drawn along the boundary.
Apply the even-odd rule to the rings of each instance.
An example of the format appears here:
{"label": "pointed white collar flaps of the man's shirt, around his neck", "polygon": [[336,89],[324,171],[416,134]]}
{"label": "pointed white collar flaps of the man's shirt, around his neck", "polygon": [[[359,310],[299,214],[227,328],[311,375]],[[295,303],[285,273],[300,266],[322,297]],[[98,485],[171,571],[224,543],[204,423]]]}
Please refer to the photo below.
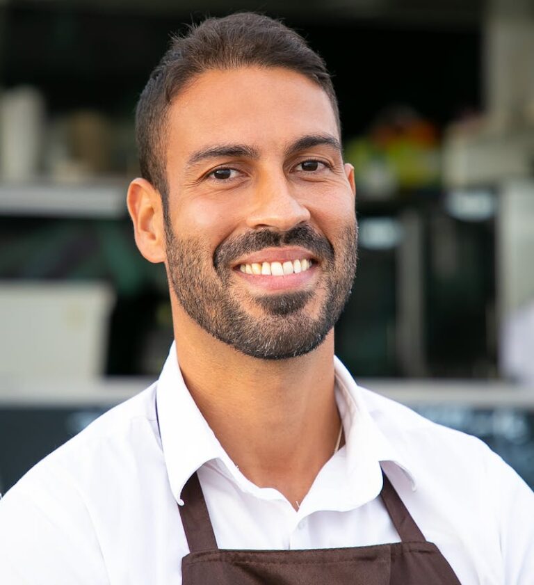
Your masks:
{"label": "pointed white collar flaps of the man's shirt, around his neck", "polygon": [[[361,389],[337,358],[334,358],[334,370],[337,402],[346,433],[346,447],[342,451],[346,450],[349,473],[358,476],[366,468],[373,467],[380,474],[376,463],[390,462],[403,471],[414,489],[410,468],[373,421],[365,408]],[[159,376],[156,408],[170,488],[179,504],[183,504],[181,491],[186,481],[211,460],[223,463],[236,481],[250,484],[229,458],[188,392],[179,369],[175,343]],[[373,475],[377,477],[376,473]],[[378,492],[380,486],[375,495]]]}

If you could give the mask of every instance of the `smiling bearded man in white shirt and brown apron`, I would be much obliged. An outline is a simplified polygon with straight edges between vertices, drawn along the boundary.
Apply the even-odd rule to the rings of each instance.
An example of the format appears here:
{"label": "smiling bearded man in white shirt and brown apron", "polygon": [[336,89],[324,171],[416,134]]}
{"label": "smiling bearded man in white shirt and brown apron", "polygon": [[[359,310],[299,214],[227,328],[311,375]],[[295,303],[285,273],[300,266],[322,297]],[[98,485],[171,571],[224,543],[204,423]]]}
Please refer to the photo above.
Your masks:
{"label": "smiling bearded man in white shirt and brown apron", "polygon": [[321,58],[267,17],[209,19],[172,42],[137,130],[128,207],[175,344],[4,497],[0,582],[530,584],[515,472],[334,359],[357,228]]}

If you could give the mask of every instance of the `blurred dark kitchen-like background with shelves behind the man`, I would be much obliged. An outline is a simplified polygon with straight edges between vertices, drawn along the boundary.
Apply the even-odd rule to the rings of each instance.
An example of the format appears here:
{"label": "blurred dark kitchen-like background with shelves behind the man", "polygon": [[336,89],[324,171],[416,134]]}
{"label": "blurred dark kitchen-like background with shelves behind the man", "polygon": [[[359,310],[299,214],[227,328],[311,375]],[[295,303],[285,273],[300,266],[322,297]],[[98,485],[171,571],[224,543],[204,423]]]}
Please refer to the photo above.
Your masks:
{"label": "blurred dark kitchen-like background with shelves behind the man", "polygon": [[337,354],[534,486],[533,1],[0,0],[0,492],[157,378],[133,111],[170,33],[244,9],[334,75],[360,226]]}

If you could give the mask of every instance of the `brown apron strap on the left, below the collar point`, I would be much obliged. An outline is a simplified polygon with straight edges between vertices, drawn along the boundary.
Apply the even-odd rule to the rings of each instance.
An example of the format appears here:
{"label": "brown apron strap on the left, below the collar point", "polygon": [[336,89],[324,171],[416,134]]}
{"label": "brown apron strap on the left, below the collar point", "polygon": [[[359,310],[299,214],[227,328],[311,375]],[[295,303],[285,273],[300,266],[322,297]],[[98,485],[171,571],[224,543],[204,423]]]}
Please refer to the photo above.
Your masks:
{"label": "brown apron strap on the left, below the collar point", "polygon": [[186,481],[184,489],[181,490],[181,498],[184,505],[178,508],[189,551],[217,550],[217,540],[213,534],[208,507],[196,472]]}

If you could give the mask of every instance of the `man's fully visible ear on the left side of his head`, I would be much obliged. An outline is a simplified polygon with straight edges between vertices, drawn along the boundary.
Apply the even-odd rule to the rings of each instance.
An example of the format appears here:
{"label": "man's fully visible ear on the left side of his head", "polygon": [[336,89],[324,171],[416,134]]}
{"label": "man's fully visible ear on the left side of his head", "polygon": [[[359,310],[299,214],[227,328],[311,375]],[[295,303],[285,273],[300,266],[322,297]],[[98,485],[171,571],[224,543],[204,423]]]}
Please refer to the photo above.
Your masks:
{"label": "man's fully visible ear on the left side of his head", "polygon": [[165,230],[161,195],[145,179],[133,179],[128,188],[128,211],[140,253],[149,262],[165,261]]}

